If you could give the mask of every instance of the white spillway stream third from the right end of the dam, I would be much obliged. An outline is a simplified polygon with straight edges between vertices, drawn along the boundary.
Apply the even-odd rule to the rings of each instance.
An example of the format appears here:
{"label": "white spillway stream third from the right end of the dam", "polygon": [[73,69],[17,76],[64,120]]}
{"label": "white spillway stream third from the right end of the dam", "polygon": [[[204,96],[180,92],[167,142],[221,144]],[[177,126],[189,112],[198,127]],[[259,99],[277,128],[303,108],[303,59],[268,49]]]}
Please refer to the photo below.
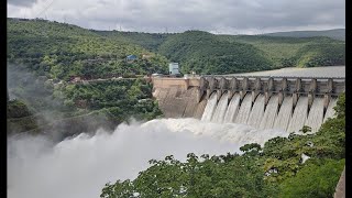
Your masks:
{"label": "white spillway stream third from the right end of the dam", "polygon": [[299,132],[301,128],[305,125],[305,122],[307,120],[307,114],[308,114],[308,97],[306,96],[300,96],[295,111],[294,116],[290,119],[287,132]]}

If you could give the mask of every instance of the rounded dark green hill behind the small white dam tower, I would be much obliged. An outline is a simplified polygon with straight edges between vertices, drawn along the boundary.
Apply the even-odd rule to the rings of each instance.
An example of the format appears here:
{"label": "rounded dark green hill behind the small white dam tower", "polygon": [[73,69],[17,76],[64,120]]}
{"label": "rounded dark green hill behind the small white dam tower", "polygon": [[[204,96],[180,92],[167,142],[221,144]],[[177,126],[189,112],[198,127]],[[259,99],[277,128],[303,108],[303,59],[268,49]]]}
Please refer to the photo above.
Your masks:
{"label": "rounded dark green hill behind the small white dam tower", "polygon": [[241,73],[265,70],[272,65],[253,45],[220,41],[217,35],[200,31],[169,36],[158,52],[173,62],[179,62],[185,73]]}

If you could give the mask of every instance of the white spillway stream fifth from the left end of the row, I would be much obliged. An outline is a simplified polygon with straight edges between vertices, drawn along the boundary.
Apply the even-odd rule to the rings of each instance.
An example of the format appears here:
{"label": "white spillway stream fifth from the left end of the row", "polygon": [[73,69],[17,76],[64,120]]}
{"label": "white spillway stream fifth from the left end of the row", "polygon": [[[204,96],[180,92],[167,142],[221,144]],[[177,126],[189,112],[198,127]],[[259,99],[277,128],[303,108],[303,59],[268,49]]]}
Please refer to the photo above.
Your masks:
{"label": "white spillway stream fifth from the left end of the row", "polygon": [[264,95],[258,95],[253,105],[250,118],[248,120],[248,124],[258,129],[261,121],[263,119],[265,108],[265,98]]}

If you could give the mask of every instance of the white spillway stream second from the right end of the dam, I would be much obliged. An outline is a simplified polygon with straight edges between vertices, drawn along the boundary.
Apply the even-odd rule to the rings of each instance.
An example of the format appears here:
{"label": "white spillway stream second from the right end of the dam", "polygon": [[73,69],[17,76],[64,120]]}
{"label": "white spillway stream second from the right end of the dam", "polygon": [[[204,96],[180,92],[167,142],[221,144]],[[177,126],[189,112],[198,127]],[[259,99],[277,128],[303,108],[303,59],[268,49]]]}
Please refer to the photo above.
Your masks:
{"label": "white spillway stream second from the right end of the dam", "polygon": [[311,128],[311,132],[318,132],[323,120],[323,98],[316,97],[312,101],[311,108],[305,125]]}

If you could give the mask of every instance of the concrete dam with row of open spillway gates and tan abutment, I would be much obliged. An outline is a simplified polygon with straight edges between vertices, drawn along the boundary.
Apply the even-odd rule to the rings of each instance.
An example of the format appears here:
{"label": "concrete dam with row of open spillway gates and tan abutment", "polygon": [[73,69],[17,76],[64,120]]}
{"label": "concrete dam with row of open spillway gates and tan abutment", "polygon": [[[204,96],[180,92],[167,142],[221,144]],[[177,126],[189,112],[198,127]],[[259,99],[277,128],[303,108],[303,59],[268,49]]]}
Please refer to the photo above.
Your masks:
{"label": "concrete dam with row of open spillway gates and tan abutment", "polygon": [[333,117],[344,78],[201,76],[153,78],[153,97],[166,118],[248,124],[258,130],[317,132]]}

